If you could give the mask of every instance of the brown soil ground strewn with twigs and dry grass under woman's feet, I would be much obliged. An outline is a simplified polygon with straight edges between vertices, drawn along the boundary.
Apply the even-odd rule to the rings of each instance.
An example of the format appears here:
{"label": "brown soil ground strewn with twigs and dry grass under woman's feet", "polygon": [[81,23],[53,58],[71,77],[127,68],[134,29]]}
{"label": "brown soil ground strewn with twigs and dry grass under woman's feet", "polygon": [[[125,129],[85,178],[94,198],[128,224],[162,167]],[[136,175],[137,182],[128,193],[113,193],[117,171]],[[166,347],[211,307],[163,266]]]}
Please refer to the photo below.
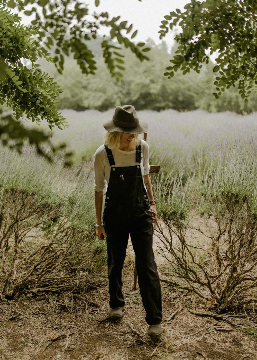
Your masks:
{"label": "brown soil ground strewn with twigs and dry grass under woman's feet", "polygon": [[[162,279],[164,259],[155,258]],[[128,246],[123,270],[126,309],[119,320],[109,316],[108,287],[74,297],[66,294],[0,301],[0,359],[4,360],[256,360],[257,334],[243,326],[192,314],[194,296],[162,282],[162,336],[147,335],[144,308],[133,291],[134,255]],[[181,309],[172,319],[172,314]],[[198,304],[199,308],[199,304]],[[251,329],[250,329],[251,330]]]}

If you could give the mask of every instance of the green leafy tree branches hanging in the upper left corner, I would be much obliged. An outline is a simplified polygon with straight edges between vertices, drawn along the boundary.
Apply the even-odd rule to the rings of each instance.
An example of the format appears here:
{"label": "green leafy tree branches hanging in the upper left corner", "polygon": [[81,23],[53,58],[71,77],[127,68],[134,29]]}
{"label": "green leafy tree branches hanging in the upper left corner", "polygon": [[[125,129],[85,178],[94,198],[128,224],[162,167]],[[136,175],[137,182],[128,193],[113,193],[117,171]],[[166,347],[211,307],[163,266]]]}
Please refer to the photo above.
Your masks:
{"label": "green leafy tree branches hanging in the upper left corner", "polygon": [[[98,6],[99,0],[95,0],[95,4]],[[32,15],[31,26],[21,23],[18,11]],[[0,0],[0,104],[6,103],[16,120],[26,116],[32,122],[46,120],[50,129],[67,127],[57,109],[57,96],[62,89],[42,72],[38,59],[55,63],[62,73],[64,55],[72,54],[83,74],[94,74],[96,61],[87,42],[95,39],[99,28],[105,26],[110,29],[110,36],[102,41],[103,57],[112,77],[119,80],[125,70],[124,55],[113,40],[130,49],[141,61],[148,59],[146,52],[150,50],[144,42],[134,44],[132,39],[136,31],[132,32],[132,24],[119,22],[119,19],[119,16],[109,19],[107,12],[90,13],[88,6],[79,0]],[[18,128],[21,129],[20,123],[17,123]],[[7,136],[3,144],[12,139],[6,129],[9,129],[6,118],[0,119],[0,136]],[[39,149],[45,137],[40,131],[37,135]],[[30,140],[31,136],[30,130],[24,129],[21,141]]]}

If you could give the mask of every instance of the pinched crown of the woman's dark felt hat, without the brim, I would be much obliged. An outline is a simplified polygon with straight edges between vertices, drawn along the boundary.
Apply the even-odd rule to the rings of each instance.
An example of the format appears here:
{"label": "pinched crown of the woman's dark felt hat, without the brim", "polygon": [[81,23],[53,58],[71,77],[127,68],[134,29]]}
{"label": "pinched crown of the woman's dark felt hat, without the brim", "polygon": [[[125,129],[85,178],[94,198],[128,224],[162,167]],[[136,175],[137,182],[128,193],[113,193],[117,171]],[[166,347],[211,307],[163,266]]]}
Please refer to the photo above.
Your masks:
{"label": "pinched crown of the woman's dark felt hat, without the brim", "polygon": [[136,110],[132,105],[116,106],[112,121],[115,125],[122,127],[136,127],[139,125]]}

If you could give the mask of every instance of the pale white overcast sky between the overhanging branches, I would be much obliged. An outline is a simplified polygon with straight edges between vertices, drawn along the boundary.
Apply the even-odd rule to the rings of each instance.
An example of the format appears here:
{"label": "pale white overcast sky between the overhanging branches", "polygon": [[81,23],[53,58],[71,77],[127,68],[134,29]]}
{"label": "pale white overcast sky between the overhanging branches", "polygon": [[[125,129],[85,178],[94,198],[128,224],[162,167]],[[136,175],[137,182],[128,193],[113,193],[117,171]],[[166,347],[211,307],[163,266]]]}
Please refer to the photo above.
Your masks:
{"label": "pale white overcast sky between the overhanging branches", "polygon": [[[158,31],[164,15],[169,15],[175,9],[182,10],[189,2],[190,0],[100,0],[96,8],[95,0],[85,0],[90,5],[90,10],[107,11],[110,17],[120,15],[120,21],[127,20],[134,24],[133,30],[138,32],[133,41],[145,41],[151,37],[156,44],[160,42]],[[173,37],[170,32],[163,38],[169,47],[173,44]]]}

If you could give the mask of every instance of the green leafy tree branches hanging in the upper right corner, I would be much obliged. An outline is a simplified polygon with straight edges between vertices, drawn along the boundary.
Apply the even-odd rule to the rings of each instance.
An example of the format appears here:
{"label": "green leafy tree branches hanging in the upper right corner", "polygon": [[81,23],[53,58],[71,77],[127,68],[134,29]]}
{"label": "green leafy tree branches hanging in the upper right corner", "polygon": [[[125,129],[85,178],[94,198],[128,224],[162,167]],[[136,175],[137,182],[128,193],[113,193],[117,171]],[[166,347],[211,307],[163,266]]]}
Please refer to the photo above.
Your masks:
{"label": "green leafy tree branches hanging in the upper right corner", "polygon": [[191,0],[185,11],[176,9],[164,16],[161,39],[177,24],[182,28],[175,37],[176,55],[164,75],[171,78],[178,69],[183,74],[190,69],[199,73],[209,55],[218,52],[213,95],[218,98],[225,88],[237,86],[247,102],[257,84],[256,7],[256,0]]}

